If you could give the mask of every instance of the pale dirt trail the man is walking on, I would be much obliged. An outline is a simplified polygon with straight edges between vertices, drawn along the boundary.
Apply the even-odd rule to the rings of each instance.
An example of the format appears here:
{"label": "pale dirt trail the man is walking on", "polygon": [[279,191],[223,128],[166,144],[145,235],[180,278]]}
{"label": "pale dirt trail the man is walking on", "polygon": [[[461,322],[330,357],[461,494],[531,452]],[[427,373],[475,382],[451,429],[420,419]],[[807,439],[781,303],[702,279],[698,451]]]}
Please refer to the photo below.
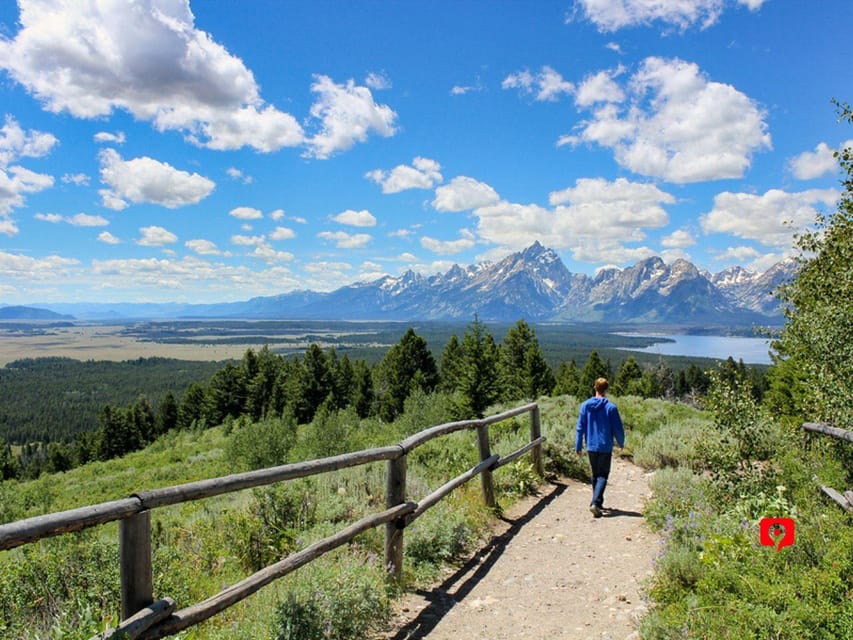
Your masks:
{"label": "pale dirt trail the man is walking on", "polygon": [[545,485],[505,513],[489,544],[436,589],[407,596],[387,640],[626,640],[658,538],[642,517],[648,476],[616,459],[602,518],[588,484]]}

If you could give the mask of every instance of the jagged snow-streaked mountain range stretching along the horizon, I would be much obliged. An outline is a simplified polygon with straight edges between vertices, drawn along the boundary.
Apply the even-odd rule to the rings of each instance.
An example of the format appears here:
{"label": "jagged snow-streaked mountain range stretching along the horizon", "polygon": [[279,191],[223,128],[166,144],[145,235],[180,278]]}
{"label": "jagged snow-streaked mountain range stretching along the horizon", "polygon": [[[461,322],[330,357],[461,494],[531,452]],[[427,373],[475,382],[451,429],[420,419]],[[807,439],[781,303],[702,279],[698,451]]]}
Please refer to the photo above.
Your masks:
{"label": "jagged snow-streaked mountain range stretching along the horizon", "polygon": [[732,267],[700,271],[659,257],[595,275],[570,272],[539,242],[500,262],[454,265],[426,276],[407,271],[331,292],[294,291],[221,304],[62,303],[47,306],[81,319],[267,318],[322,320],[481,320],[772,324],[781,321],[773,292],[795,273],[793,260],[764,273]]}

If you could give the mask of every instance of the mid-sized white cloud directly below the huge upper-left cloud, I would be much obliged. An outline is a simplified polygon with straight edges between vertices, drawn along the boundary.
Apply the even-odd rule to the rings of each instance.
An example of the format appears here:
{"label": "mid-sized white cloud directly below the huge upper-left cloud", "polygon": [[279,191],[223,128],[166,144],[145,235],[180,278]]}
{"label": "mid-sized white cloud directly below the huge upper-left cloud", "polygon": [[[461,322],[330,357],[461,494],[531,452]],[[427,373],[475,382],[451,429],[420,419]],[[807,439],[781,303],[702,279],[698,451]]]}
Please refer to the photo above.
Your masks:
{"label": "mid-sized white cloud directly below the huge upper-left cloud", "polygon": [[109,187],[100,190],[101,198],[105,207],[116,211],[130,203],[148,202],[168,209],[196,204],[216,186],[204,176],[180,171],[147,156],[123,160],[114,149],[104,149],[98,157],[101,181]]}

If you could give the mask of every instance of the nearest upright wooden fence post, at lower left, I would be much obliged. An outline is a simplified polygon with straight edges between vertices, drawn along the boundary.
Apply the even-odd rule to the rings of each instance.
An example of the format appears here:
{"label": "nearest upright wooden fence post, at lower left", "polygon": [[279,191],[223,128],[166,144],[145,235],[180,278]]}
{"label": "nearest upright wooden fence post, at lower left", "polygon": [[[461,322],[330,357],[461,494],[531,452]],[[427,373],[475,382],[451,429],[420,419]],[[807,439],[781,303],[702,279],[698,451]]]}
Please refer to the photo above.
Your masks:
{"label": "nearest upright wooden fence post, at lower left", "polygon": [[119,521],[121,556],[121,618],[127,620],[154,602],[151,568],[151,512],[141,511]]}

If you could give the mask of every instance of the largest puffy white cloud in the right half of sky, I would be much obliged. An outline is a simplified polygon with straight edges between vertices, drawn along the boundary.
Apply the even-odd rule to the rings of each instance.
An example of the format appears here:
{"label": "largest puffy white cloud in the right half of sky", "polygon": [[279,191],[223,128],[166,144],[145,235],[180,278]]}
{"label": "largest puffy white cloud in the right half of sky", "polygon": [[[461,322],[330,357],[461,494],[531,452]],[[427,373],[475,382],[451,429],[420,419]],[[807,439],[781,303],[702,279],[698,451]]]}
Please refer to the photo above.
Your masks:
{"label": "largest puffy white cloud in the right half of sky", "polygon": [[627,84],[630,104],[607,104],[558,144],[596,143],[641,175],[687,183],[740,178],[771,148],[764,112],[695,64],[646,58]]}

